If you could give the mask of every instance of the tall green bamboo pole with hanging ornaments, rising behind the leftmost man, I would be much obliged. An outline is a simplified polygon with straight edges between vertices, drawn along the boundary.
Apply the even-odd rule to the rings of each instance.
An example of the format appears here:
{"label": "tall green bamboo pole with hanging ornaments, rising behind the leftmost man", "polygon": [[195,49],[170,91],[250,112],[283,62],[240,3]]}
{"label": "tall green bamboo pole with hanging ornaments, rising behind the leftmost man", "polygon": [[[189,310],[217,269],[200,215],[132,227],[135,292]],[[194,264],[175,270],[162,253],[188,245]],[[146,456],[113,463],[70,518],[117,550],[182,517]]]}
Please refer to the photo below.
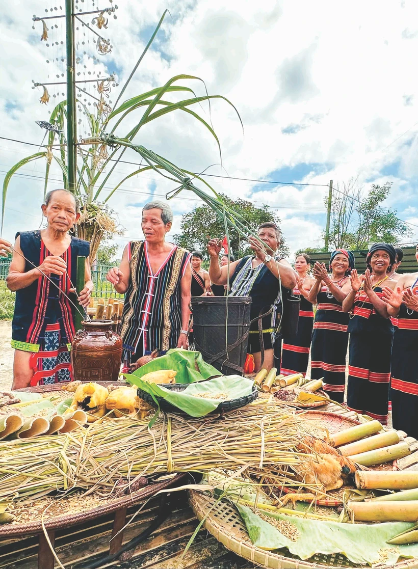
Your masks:
{"label": "tall green bamboo pole with hanging ornaments, rising behind the leftmost man", "polygon": [[76,88],[74,49],[74,0],[65,0],[65,32],[67,36],[67,167],[68,189],[76,188]]}

